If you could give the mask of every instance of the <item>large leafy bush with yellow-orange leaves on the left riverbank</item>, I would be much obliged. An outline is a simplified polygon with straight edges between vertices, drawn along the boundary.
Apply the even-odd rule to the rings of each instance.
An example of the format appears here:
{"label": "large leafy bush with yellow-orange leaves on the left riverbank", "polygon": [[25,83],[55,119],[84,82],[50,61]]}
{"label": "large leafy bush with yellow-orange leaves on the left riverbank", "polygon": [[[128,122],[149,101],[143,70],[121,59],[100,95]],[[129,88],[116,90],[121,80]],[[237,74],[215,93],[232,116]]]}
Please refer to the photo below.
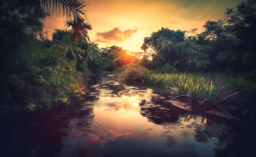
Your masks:
{"label": "large leafy bush with yellow-orange leaves on the left riverbank", "polygon": [[[74,61],[63,58],[58,46],[30,52],[34,57],[20,65],[20,70],[9,72],[1,89],[0,114],[14,110],[49,110],[59,105],[71,105],[83,100],[86,87]],[[48,59],[46,59],[48,58]],[[1,78],[4,82],[4,79]]]}

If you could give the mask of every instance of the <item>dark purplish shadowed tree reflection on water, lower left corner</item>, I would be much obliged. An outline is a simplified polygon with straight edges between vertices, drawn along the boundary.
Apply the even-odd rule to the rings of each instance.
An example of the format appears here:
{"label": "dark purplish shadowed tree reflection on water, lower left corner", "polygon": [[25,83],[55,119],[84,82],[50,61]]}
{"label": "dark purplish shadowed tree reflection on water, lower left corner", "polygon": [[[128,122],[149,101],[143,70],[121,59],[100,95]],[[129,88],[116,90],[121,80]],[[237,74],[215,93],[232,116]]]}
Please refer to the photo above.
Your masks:
{"label": "dark purplish shadowed tree reflection on water, lower left corner", "polygon": [[[92,109],[56,110],[1,118],[1,157],[52,157],[63,148],[72,117],[92,119]],[[78,120],[79,123],[81,121]],[[87,122],[88,123],[88,122]],[[85,131],[86,132],[86,131]],[[2,149],[3,148],[3,149]]]}

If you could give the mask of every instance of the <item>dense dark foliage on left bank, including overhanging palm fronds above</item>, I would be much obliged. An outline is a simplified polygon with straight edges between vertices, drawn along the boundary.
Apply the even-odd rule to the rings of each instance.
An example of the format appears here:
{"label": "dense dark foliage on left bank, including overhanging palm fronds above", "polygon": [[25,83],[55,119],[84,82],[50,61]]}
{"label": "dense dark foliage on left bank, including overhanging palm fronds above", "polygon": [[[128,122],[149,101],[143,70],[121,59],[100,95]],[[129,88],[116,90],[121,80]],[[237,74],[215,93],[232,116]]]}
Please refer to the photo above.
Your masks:
{"label": "dense dark foliage on left bank, including overhanging palm fronds above", "polygon": [[84,26],[85,6],[80,0],[1,0],[1,115],[83,100],[86,87],[75,62],[84,50],[73,44],[73,32],[66,31],[59,38],[61,45],[54,45],[43,36],[41,19],[64,9],[67,20]]}

